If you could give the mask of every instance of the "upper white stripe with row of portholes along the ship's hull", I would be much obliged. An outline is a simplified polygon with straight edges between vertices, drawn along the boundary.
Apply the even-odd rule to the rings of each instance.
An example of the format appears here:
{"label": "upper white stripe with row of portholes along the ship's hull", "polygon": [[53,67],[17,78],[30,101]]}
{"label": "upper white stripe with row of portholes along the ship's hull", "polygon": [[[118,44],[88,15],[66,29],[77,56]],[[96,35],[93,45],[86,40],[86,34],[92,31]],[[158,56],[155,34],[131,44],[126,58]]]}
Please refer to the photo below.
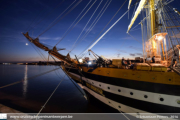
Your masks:
{"label": "upper white stripe with row of portholes along the ship's hull", "polygon": [[[80,76],[77,74],[74,74],[72,72],[69,72],[69,73],[80,78]],[[103,89],[104,91],[107,91],[107,92],[110,92],[113,94],[129,97],[129,98],[133,98],[133,99],[137,99],[137,100],[142,100],[142,101],[146,101],[146,102],[156,103],[156,104],[180,107],[180,105],[177,103],[177,100],[180,100],[180,96],[165,95],[165,94],[159,94],[159,93],[146,92],[146,91],[125,88],[125,87],[119,87],[119,86],[110,85],[110,84],[106,84],[106,83],[102,83],[102,82],[97,82],[95,80],[91,80],[91,79],[88,79],[85,77],[82,77],[82,79],[96,87]],[[101,85],[101,86],[99,86],[99,85]],[[110,89],[108,89],[108,87]],[[120,92],[118,90],[120,90]],[[133,95],[130,94],[131,92],[133,93]],[[147,98],[144,97],[145,95],[147,96]],[[161,101],[160,98],[163,98],[164,100]]]}

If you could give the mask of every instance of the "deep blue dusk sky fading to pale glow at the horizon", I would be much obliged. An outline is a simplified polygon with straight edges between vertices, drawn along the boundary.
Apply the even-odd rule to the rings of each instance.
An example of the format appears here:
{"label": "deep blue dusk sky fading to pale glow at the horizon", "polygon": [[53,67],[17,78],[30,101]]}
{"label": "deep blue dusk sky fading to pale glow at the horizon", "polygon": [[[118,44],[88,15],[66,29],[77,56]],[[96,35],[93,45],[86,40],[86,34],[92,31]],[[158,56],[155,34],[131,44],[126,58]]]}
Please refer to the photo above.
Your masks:
{"label": "deep blue dusk sky fading to pale glow at the horizon", "polygon": [[[80,14],[83,8],[89,3],[81,16],[94,3],[82,20],[80,20],[69,34],[67,34],[67,36],[57,45],[58,48],[66,48],[64,51],[59,51],[60,53],[64,55],[67,54],[68,50],[72,49],[74,42],[80,35],[97,6],[99,5],[99,8],[94,13],[94,16],[87,27],[84,29],[82,36],[86,31],[88,31],[89,26],[106,2],[109,3],[110,1],[111,0],[97,0],[95,2],[95,0],[92,0],[89,3],[89,0],[82,0],[82,2],[80,2],[63,19],[59,20],[60,18],[58,18],[57,20],[59,20],[59,22],[39,37],[40,42],[54,46],[63,37],[66,30]],[[88,36],[82,42],[77,42],[78,45],[72,51],[72,57],[74,57],[74,54],[79,55],[96,38],[124,1],[125,0],[111,1],[108,8],[95,27],[90,31]],[[176,2],[177,1],[178,0],[176,0]],[[0,62],[42,61],[43,59],[32,47],[31,43],[29,43],[22,35],[22,32],[26,33],[29,31],[30,36],[33,36],[34,38],[38,37],[66,8],[68,8],[68,6],[73,3],[68,9],[70,10],[78,2],[79,0],[0,0]],[[122,14],[124,14],[124,12],[127,11],[128,2],[129,1],[127,0],[122,9],[101,34],[103,34],[119,17],[121,17]],[[132,0],[132,4],[135,2],[136,0]],[[179,4],[179,1],[177,3]],[[68,10],[66,12],[68,12]],[[130,10],[129,18],[131,18],[133,11],[134,9]],[[139,22],[140,17],[136,20],[133,27]],[[126,33],[129,23],[130,19],[128,19],[128,14],[126,14],[92,48],[92,51],[98,55],[103,55],[106,58],[141,57],[142,39],[140,25],[135,28],[134,31],[130,31],[130,34],[139,40],[139,42],[137,42]],[[28,43],[28,45],[26,45],[26,43]],[[47,53],[42,50],[41,52],[46,55],[47,58]],[[119,57],[118,54],[120,54]]]}

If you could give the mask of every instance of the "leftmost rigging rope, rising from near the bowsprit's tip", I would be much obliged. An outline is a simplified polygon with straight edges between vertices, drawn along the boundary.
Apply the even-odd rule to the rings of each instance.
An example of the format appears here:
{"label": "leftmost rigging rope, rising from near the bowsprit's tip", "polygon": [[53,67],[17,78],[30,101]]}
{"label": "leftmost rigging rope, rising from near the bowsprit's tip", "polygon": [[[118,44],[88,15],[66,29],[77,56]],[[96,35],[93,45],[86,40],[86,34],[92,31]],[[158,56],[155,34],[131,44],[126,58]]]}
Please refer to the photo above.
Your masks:
{"label": "leftmost rigging rope, rising from near the bowsprit's tip", "polygon": [[[56,23],[54,23],[55,22],[55,20],[57,19],[55,19],[48,27],[47,27],[47,29],[46,30],[44,30],[39,36],[41,36],[42,34],[44,34],[45,32],[47,32],[51,27],[53,27],[55,24],[57,24],[59,21],[61,21],[66,15],[68,15],[75,7],[77,7],[78,5],[79,5],[79,3],[81,3],[82,2],[82,0],[79,0],[65,15],[63,15]],[[74,3],[74,2],[73,2]],[[58,18],[61,16],[62,14],[60,14],[59,16],[58,16]],[[54,24],[53,24],[54,23]],[[38,36],[38,37],[39,37]]]}

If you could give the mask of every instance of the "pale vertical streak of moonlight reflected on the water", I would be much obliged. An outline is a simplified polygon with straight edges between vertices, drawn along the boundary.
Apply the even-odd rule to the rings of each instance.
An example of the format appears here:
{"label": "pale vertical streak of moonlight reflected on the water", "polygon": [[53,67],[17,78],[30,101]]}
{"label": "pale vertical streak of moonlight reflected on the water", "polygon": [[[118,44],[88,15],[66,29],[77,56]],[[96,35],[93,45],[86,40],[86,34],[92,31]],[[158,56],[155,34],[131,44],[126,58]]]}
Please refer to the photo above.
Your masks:
{"label": "pale vertical streak of moonlight reflected on the water", "polygon": [[24,81],[23,81],[23,97],[26,97],[27,87],[28,87],[27,71],[28,71],[28,66],[26,65],[25,66],[25,71],[24,71]]}

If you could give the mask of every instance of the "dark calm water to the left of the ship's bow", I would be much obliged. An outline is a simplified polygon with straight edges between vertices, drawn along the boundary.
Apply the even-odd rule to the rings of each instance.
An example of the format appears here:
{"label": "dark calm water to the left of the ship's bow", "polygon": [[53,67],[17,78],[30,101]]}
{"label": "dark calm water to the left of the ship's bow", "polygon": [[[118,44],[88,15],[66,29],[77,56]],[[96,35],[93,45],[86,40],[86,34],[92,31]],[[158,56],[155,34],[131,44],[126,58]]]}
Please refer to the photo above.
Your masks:
{"label": "dark calm water to the left of the ship's bow", "polygon": [[0,89],[0,104],[21,112],[37,113],[64,80],[49,100],[42,113],[114,113],[108,107],[92,98],[88,102],[61,69],[28,79],[53,70],[58,66],[0,65],[0,87],[24,79],[24,82]]}

